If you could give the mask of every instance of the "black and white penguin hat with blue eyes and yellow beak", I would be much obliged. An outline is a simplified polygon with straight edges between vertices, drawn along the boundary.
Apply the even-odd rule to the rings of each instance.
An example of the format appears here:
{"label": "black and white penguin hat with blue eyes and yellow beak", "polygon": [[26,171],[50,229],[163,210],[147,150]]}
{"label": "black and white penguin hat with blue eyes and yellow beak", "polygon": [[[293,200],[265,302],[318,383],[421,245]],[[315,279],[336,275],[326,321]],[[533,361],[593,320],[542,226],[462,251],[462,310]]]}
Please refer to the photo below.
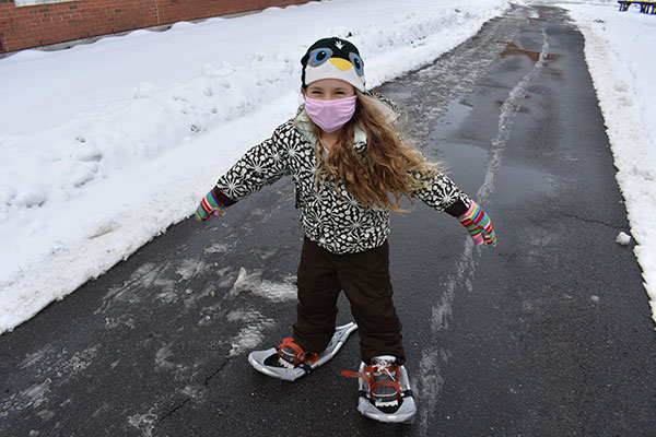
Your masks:
{"label": "black and white penguin hat with blue eyes and yellow beak", "polygon": [[301,59],[303,88],[321,79],[339,79],[364,92],[364,62],[358,48],[345,39],[323,38]]}

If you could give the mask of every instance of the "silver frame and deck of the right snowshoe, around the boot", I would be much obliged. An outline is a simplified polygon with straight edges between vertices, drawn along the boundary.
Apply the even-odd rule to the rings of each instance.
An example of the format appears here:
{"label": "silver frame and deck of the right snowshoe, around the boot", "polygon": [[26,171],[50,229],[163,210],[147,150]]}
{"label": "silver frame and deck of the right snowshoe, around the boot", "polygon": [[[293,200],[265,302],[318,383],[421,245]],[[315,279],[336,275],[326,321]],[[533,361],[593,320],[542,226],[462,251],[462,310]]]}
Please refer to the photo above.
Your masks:
{"label": "silver frame and deck of the right snowshoe, around the boot", "polygon": [[366,375],[365,364],[360,364],[359,375],[344,371],[342,375],[348,377],[358,377],[358,411],[365,417],[373,418],[378,422],[387,423],[399,423],[399,422],[411,422],[417,413],[417,405],[414,404],[414,398],[410,390],[410,380],[408,379],[408,371],[405,366],[399,366],[399,400],[398,405],[394,409],[388,406],[377,408],[372,401],[371,387],[368,378],[364,378],[360,375]]}

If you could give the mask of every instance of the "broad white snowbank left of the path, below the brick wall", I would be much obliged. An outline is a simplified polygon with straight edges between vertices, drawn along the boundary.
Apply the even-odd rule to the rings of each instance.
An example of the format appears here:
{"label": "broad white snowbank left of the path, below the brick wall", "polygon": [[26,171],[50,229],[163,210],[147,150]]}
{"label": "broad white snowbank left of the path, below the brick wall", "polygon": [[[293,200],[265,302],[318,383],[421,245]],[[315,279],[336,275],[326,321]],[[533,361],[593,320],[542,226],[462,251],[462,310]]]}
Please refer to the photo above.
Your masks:
{"label": "broad white snowbank left of the path, below the brick wall", "polygon": [[300,59],[349,37],[374,87],[505,0],[332,0],[0,59],[0,333],[189,216],[301,103]]}

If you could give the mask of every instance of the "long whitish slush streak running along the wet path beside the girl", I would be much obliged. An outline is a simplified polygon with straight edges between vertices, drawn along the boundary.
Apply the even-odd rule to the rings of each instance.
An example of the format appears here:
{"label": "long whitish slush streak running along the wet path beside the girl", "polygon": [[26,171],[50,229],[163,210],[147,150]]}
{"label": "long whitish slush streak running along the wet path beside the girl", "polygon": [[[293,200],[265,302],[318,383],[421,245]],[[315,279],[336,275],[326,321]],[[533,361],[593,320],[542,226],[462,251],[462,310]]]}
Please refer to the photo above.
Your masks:
{"label": "long whitish slush streak running along the wet path beside the girl", "polygon": [[[542,28],[542,47],[539,58],[534,64],[534,68],[511,90],[507,98],[501,106],[499,117],[499,129],[496,135],[492,139],[488,162],[485,165],[485,175],[483,184],[476,194],[476,199],[480,203],[485,203],[490,200],[490,196],[494,191],[494,182],[496,170],[502,163],[502,154],[506,147],[507,140],[512,132],[513,122],[518,113],[522,101],[527,95],[528,86],[536,80],[540,71],[544,67],[547,55],[549,52],[549,42],[547,33]],[[446,349],[438,345],[436,334],[448,328],[448,320],[452,316],[453,302],[456,296],[456,291],[459,285],[465,285],[468,292],[473,292],[472,279],[476,273],[476,261],[473,259],[473,241],[467,237],[462,252],[456,262],[455,274],[448,277],[445,291],[440,303],[432,307],[431,332],[433,334],[426,347],[422,351],[420,359],[420,373],[417,385],[420,398],[420,435],[429,435],[429,418],[433,416],[436,410],[437,397],[444,386],[444,378],[441,375],[440,363],[448,361],[449,353]]]}

